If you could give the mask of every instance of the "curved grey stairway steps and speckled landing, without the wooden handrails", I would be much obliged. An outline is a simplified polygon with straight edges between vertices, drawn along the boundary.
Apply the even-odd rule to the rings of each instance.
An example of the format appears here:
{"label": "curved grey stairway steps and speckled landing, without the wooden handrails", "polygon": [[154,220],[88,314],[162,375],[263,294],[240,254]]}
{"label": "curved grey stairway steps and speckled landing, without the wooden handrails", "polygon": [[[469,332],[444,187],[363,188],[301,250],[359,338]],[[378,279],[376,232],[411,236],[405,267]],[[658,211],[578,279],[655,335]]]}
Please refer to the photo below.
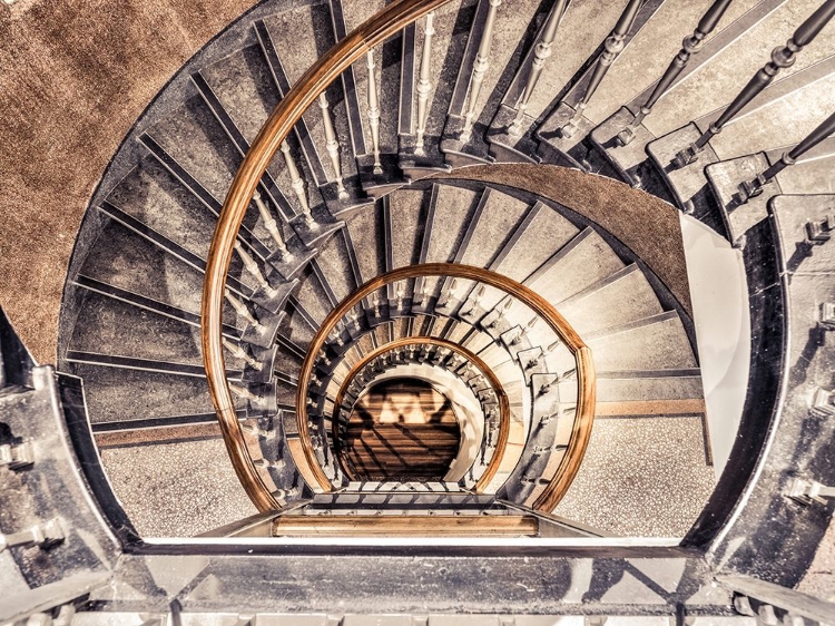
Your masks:
{"label": "curved grey stairway steps and speckled landing, without the wooden handrails", "polygon": [[[717,75],[741,87],[790,36],[786,25],[796,27],[819,3],[764,0],[728,9],[719,21],[725,30],[713,35],[718,43],[709,48],[708,36],[700,52],[710,62],[691,65],[692,78],[675,84],[640,126],[648,133],[640,149],[652,158],[644,151],[638,163],[627,163],[601,134],[621,104],[640,100],[638,89],[664,70],[708,3],[686,11],[675,2],[606,4],[593,19],[591,3],[564,4],[446,3],[431,28],[426,20],[407,27],[346,71],[273,159],[238,236],[224,335],[249,449],[283,502],[310,498],[313,487],[296,471],[288,441],[297,437],[297,372],[320,325],[367,281],[399,267],[451,263],[529,286],[592,351],[597,419],[557,513],[599,534],[681,536],[701,510],[714,471],[692,322],[676,296],[629,248],[613,246],[609,233],[536,189],[520,193],[454,174],[421,178],[464,165],[544,159],[642,186],[738,242],[739,233],[728,229],[728,216],[738,213],[723,199],[728,183],[694,170],[679,184],[650,139],[685,148],[675,133],[666,134],[691,120],[701,128],[723,104],[705,85]],[[338,0],[261,6],[146,113],[136,141],[117,155],[94,200],[68,280],[60,365],[85,380],[102,461],[141,534],[197,534],[254,512],[224,463],[199,349],[215,218],[268,111],[313,60],[381,7]],[[562,10],[546,45],[551,12]],[[674,13],[681,31],[675,37]],[[622,51],[578,117],[571,111],[588,94],[589,74],[606,58],[600,42],[618,21],[629,27],[618,35]],[[713,167],[755,147],[765,150],[756,158],[767,165],[774,160],[768,150],[799,141],[825,117],[819,107],[793,110],[790,133],[778,138],[763,123],[831,80],[821,50],[831,49],[834,31],[822,30],[785,71],[785,82],[773,84],[759,107],[710,143]],[[656,49],[657,41],[664,45]],[[564,50],[577,51],[571,62],[554,62]],[[547,65],[520,117],[520,94],[540,61]],[[577,128],[563,133],[569,119]],[[780,185],[831,193],[835,183],[819,174],[827,146],[786,169]],[[756,202],[780,188],[768,187]],[[560,446],[556,424],[542,424],[554,402],[563,410],[576,401],[572,385],[563,384],[570,382],[568,353],[551,349],[542,324],[530,324],[523,305],[494,290],[481,293],[450,278],[390,284],[344,320],[321,374],[350,369],[374,348],[405,338],[448,339],[481,355],[501,373],[517,423],[510,438],[515,462],[500,469],[507,481],[490,492],[530,505]],[[328,447],[334,394],[323,387],[310,398],[317,458],[334,485],[350,490]],[[541,430],[544,440],[537,439]],[[189,519],[177,503],[184,498],[198,511]]]}

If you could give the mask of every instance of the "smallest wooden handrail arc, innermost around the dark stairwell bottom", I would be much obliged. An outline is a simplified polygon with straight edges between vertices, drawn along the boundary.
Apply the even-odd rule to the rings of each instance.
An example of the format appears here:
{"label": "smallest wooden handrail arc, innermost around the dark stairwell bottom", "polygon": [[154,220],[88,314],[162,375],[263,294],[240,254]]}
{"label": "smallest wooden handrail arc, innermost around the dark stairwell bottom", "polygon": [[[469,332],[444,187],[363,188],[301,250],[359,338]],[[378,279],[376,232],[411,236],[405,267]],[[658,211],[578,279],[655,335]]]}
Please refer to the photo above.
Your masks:
{"label": "smallest wooden handrail arc, innermost around the dark stairwell bottom", "polygon": [[[354,366],[351,368],[351,371],[345,376],[345,380],[343,381],[342,387],[340,387],[340,391],[336,394],[336,402],[334,403],[334,414],[333,414],[334,438],[338,436],[337,418],[338,418],[338,412],[342,407],[342,400],[345,398],[345,392],[347,391],[347,388],[351,384],[351,381],[354,379],[354,376],[356,376],[356,374],[365,365],[371,363],[377,356],[385,354],[386,352],[391,352],[393,350],[405,348],[406,345],[438,345],[441,348],[446,348],[451,350],[452,352],[454,352],[455,354],[460,354],[468,361],[472,362],[475,365],[475,368],[478,368],[478,370],[484,375],[484,378],[488,379],[490,387],[493,388],[493,391],[495,392],[495,397],[499,400],[499,441],[495,442],[495,452],[490,459],[490,462],[488,463],[488,467],[484,470],[484,473],[481,476],[481,478],[479,478],[479,480],[475,482],[475,486],[473,488],[473,490],[477,493],[482,493],[484,489],[487,489],[488,485],[490,485],[490,481],[495,476],[495,472],[499,471],[499,466],[501,464],[502,458],[504,457],[504,450],[508,448],[508,439],[510,438],[510,400],[508,399],[508,394],[504,391],[504,388],[502,387],[501,381],[493,373],[493,370],[491,370],[490,366],[487,363],[484,363],[484,361],[478,354],[468,350],[466,348],[463,348],[462,345],[459,345],[455,342],[441,339],[441,338],[435,338],[435,336],[404,336],[395,341],[391,341],[386,344],[383,344],[376,348],[375,350],[372,350],[371,352],[369,352],[356,364],[354,364]],[[345,463],[343,463],[342,469],[343,471],[347,469],[345,467]],[[345,471],[345,473],[350,475],[348,471]]]}

